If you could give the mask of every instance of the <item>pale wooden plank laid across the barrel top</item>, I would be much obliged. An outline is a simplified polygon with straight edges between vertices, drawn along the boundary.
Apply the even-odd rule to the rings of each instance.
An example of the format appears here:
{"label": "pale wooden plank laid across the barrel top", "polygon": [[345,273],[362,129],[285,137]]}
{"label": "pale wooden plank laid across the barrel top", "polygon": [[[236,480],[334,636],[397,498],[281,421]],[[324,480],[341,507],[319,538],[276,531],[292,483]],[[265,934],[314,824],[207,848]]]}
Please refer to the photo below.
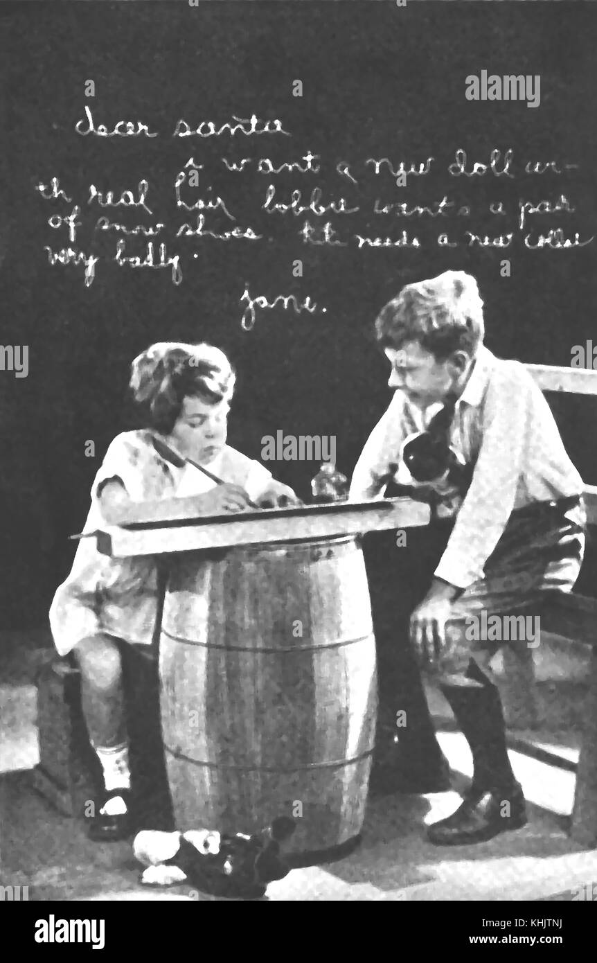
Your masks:
{"label": "pale wooden plank laid across the barrel top", "polygon": [[169,521],[163,527],[159,522],[135,528],[115,526],[95,534],[100,552],[126,558],[405,529],[428,525],[429,515],[425,503],[396,498],[342,506],[266,508],[217,520]]}

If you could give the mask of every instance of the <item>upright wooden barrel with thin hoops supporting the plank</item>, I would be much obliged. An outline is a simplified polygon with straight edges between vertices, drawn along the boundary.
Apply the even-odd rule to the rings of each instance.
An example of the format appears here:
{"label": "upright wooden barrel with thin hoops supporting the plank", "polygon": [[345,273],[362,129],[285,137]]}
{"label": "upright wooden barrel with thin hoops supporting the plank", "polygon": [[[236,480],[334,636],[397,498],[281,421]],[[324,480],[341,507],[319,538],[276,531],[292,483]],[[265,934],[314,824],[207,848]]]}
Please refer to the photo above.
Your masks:
{"label": "upright wooden barrel with thin hoops supporting the plank", "polygon": [[353,537],[178,556],[160,676],[178,829],[250,833],[287,815],[295,853],[360,833],[376,646]]}

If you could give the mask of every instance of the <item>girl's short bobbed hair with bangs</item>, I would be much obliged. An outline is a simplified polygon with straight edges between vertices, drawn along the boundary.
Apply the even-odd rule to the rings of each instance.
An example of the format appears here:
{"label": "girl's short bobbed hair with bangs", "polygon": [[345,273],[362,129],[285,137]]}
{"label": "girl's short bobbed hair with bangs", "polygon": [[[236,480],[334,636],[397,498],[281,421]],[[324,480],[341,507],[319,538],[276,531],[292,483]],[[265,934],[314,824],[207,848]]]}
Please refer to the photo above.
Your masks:
{"label": "girl's short bobbed hair with bangs", "polygon": [[226,355],[213,345],[160,342],[131,365],[129,390],[146,427],[169,434],[189,396],[206,403],[231,399],[236,376]]}

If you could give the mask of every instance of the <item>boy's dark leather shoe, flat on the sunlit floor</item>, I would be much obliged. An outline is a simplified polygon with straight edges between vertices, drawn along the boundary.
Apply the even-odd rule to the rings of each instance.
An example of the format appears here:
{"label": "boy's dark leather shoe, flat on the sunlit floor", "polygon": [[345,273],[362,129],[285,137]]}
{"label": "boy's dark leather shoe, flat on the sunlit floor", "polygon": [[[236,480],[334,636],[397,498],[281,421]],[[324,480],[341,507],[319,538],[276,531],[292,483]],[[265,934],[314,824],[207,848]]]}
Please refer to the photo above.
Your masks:
{"label": "boy's dark leather shoe, flat on the sunlit floor", "polygon": [[[503,815],[506,802],[509,808]],[[520,829],[526,822],[525,797],[519,783],[503,790],[472,786],[452,816],[428,827],[428,840],[435,846],[484,843],[507,829]]]}

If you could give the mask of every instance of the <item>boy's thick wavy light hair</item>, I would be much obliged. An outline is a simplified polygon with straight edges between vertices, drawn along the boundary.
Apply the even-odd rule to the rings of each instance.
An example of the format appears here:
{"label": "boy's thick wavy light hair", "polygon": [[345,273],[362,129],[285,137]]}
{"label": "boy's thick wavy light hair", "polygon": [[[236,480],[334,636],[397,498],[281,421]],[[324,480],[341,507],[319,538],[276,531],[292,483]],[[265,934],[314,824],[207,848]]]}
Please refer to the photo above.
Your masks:
{"label": "boy's thick wavy light hair", "polygon": [[376,318],[382,348],[399,350],[416,341],[444,361],[454,351],[475,355],[484,335],[483,302],[477,281],[464,271],[445,271],[406,284]]}

